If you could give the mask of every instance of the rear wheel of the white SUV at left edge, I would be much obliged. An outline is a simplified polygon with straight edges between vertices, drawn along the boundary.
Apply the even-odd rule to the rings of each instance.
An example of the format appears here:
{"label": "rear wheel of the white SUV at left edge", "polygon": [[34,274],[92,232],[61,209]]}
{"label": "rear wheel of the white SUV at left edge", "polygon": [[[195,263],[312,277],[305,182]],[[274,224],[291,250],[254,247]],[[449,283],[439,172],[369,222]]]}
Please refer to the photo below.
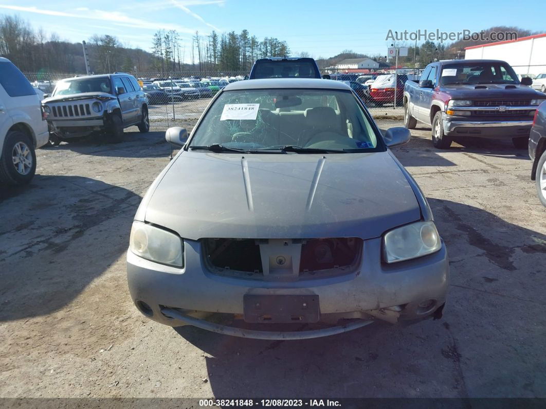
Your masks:
{"label": "rear wheel of the white SUV at left edge", "polygon": [[7,185],[23,185],[36,171],[36,153],[31,138],[20,131],[5,136],[0,156],[0,181]]}

